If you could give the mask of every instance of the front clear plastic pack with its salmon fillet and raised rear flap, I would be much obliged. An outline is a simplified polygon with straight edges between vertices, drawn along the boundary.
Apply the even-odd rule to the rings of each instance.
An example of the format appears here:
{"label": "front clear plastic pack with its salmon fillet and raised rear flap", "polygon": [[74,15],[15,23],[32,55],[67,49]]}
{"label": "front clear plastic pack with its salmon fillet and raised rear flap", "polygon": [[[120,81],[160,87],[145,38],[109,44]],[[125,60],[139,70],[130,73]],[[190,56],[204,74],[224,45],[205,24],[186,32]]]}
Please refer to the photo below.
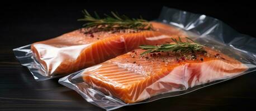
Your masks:
{"label": "front clear plastic pack with its salmon fillet and raised rear flap", "polygon": [[164,7],[157,21],[182,28],[208,53],[192,59],[172,53],[139,57],[141,49],[136,49],[60,78],[59,83],[87,102],[113,110],[186,94],[256,69],[256,39],[218,19]]}

